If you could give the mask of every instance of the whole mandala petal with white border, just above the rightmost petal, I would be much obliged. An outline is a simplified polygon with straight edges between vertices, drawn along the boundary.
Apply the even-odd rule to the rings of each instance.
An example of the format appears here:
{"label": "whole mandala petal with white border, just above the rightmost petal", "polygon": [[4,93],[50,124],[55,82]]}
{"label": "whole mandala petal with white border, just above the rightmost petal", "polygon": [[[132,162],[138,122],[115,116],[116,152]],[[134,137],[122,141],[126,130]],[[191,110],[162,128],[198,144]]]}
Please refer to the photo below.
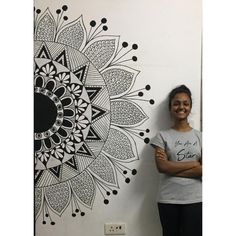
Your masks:
{"label": "whole mandala petal with white border, just above the rightmost petal", "polygon": [[111,98],[125,95],[133,86],[139,71],[127,66],[110,66],[102,72]]}

